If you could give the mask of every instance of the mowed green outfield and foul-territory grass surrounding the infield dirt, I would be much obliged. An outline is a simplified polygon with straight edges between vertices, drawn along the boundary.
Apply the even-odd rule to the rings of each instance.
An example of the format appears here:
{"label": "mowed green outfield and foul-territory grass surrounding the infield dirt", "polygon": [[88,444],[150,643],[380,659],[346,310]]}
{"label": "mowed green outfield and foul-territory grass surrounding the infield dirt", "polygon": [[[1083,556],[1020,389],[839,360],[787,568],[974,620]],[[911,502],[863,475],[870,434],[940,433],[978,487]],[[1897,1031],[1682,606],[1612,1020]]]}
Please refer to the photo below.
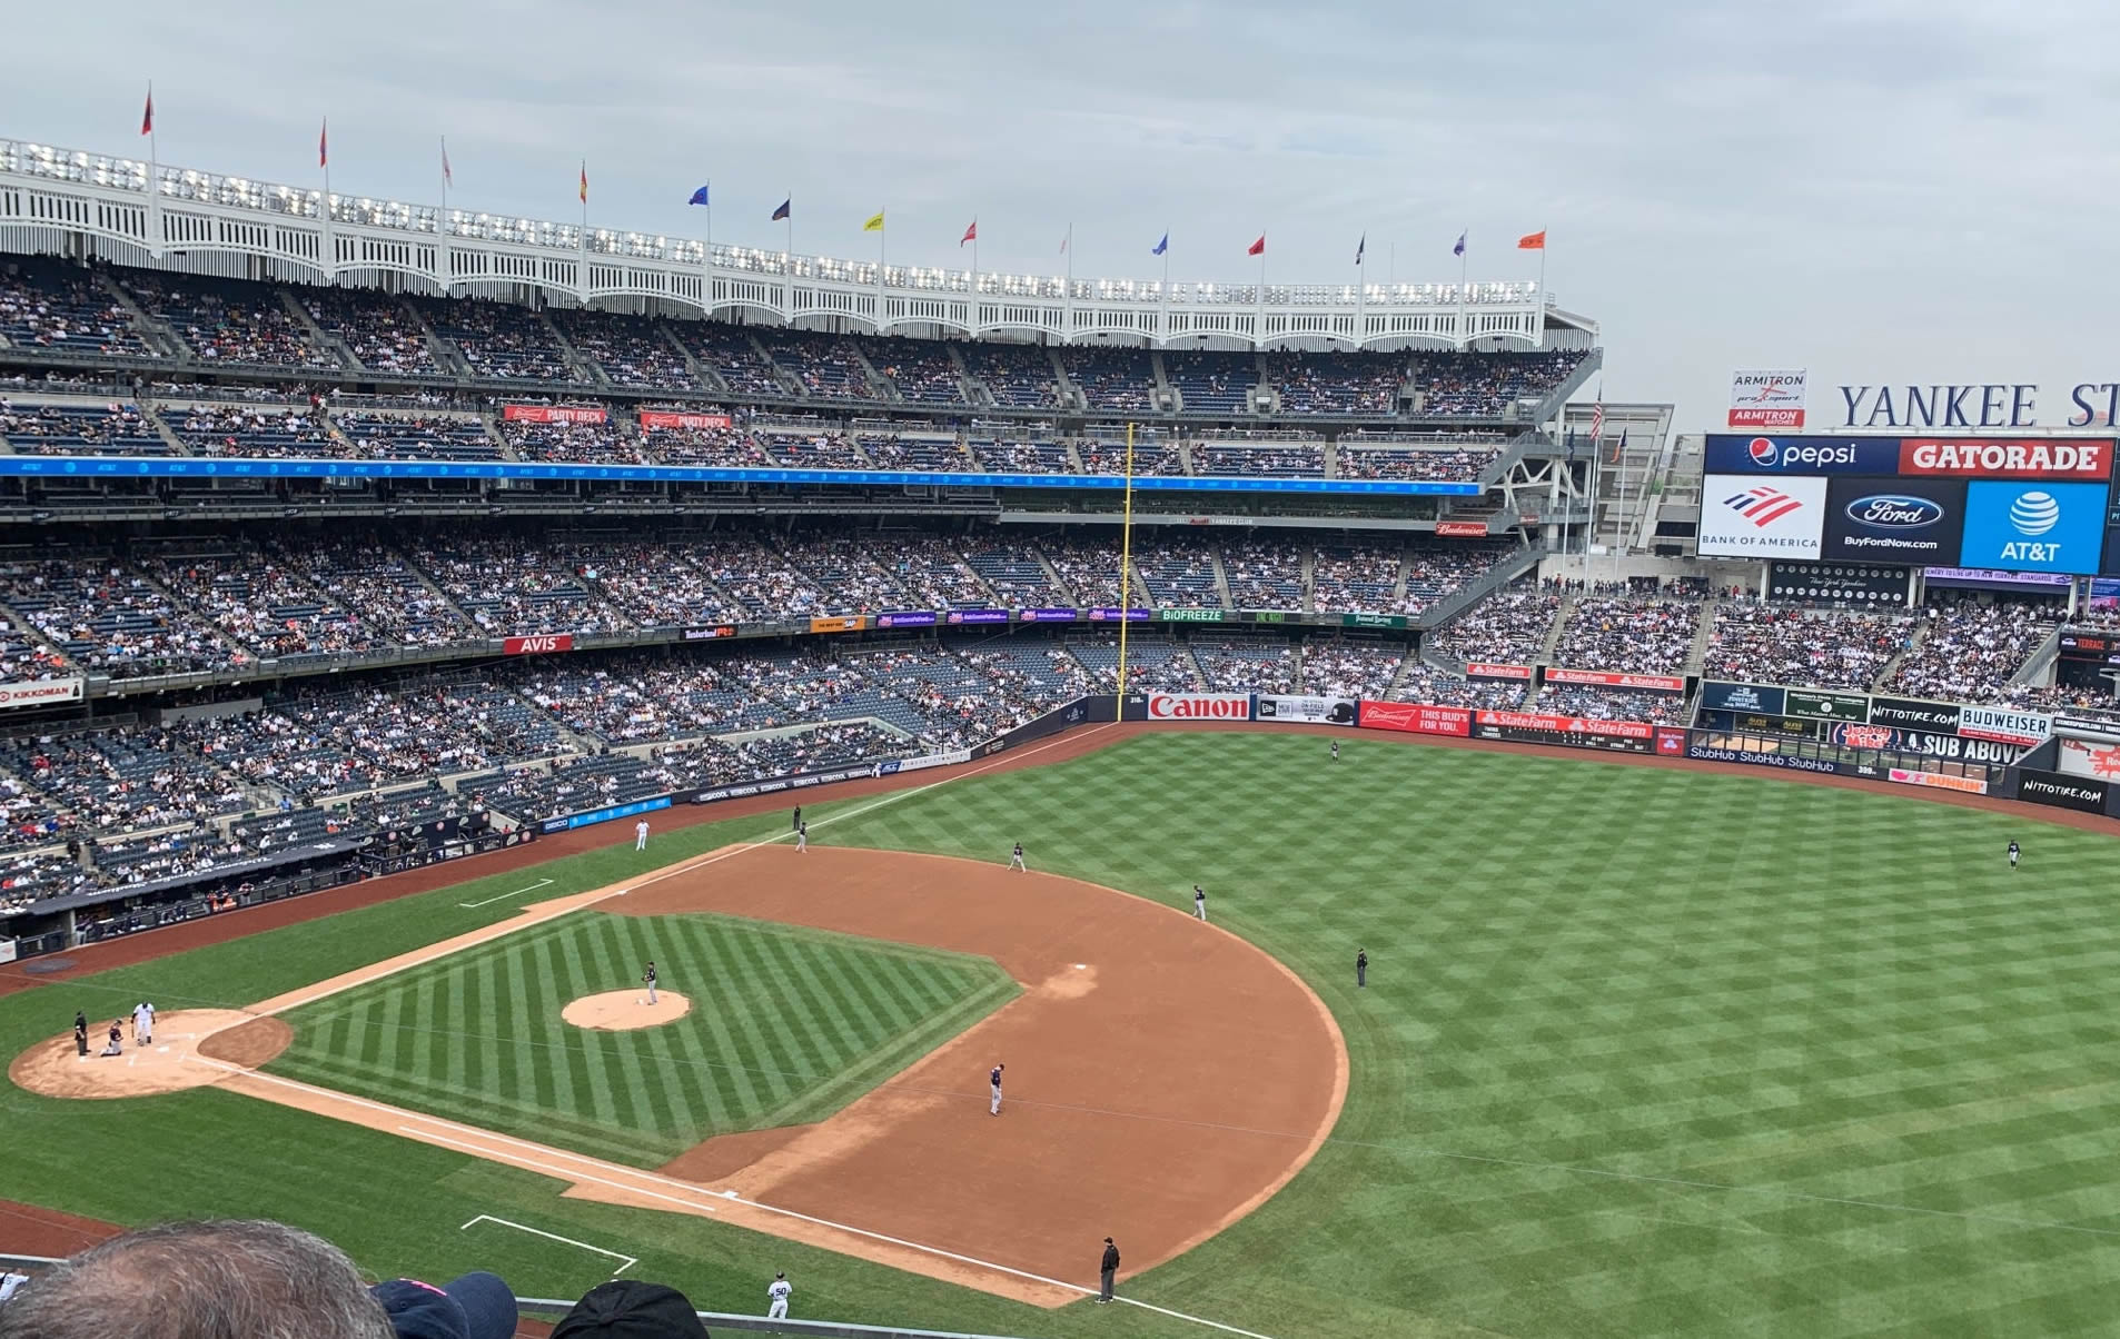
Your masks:
{"label": "mowed green outfield and foul-territory grass surrounding the infield dirt", "polygon": [[[2114,1328],[2109,837],[1567,754],[1363,737],[1344,754],[1329,763],[1308,735],[1168,733],[846,822],[878,801],[806,805],[814,841],[992,860],[1022,839],[1035,869],[1177,907],[1204,881],[1219,924],[1333,1008],[1353,1059],[1333,1140],[1134,1297],[1276,1339]],[[653,864],[782,822],[672,833]],[[555,877],[555,896],[644,864],[611,850],[528,877]],[[95,992],[257,1000],[507,913],[456,907],[477,896],[0,998],[0,1051],[61,1032]],[[1365,992],[1355,947],[1372,958]],[[379,1273],[496,1265],[553,1295],[596,1282],[566,1246],[458,1231],[500,1214],[640,1254],[640,1275],[708,1307],[761,1305],[784,1267],[812,1316],[1208,1335],[558,1201],[530,1174],[218,1091],[8,1091],[0,1123],[0,1195],[121,1222],[273,1214]]]}

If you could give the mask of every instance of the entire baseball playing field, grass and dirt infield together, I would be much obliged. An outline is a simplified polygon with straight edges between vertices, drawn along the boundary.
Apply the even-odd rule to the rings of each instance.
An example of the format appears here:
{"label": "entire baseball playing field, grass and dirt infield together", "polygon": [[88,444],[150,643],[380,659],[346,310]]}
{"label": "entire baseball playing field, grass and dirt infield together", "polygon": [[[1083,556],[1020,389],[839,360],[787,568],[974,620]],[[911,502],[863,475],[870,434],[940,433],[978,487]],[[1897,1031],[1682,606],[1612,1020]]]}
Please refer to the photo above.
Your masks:
{"label": "entire baseball playing field, grass and dirt infield together", "polygon": [[[83,953],[0,994],[0,1199],[994,1335],[2109,1333],[2112,837],[1340,737],[1081,731],[808,803],[806,854],[615,824]],[[142,998],[176,1059],[47,1095],[121,1064],[40,1053],[74,1011]],[[1079,1292],[1105,1233],[1145,1305]]]}

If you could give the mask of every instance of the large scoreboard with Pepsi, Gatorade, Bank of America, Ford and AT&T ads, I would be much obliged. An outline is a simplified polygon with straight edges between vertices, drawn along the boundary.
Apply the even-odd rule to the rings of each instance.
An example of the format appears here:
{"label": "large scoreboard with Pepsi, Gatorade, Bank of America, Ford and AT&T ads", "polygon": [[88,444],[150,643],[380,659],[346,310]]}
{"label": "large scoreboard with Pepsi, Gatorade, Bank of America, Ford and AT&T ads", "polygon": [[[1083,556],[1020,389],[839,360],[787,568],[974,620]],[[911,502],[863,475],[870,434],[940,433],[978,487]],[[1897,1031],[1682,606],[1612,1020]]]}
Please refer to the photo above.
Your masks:
{"label": "large scoreboard with Pepsi, Gatorade, Bank of America, Ford and AT&T ads", "polygon": [[2109,436],[1711,432],[1700,555],[2120,572]]}

